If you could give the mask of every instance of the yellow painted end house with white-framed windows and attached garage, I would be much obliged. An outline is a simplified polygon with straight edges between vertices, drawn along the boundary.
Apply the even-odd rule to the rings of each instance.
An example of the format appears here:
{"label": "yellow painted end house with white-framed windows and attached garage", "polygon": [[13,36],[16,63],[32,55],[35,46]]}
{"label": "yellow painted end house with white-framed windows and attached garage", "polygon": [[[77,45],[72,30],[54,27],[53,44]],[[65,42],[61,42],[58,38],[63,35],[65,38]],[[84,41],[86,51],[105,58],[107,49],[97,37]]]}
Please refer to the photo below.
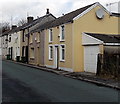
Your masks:
{"label": "yellow painted end house with white-framed windows and attached garage", "polygon": [[104,40],[119,34],[118,17],[98,2],[65,14],[45,28],[44,64],[56,70],[96,73],[97,55],[104,53],[104,45],[120,45],[115,39]]}

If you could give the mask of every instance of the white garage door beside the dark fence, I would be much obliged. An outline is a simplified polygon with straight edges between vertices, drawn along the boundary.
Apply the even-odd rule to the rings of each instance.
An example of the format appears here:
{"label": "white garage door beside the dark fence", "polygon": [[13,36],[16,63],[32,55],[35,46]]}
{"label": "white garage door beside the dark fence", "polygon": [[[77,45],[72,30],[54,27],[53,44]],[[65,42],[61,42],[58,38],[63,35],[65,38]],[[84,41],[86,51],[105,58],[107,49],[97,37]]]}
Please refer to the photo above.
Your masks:
{"label": "white garage door beside the dark fence", "polygon": [[84,46],[84,71],[96,73],[99,46]]}

